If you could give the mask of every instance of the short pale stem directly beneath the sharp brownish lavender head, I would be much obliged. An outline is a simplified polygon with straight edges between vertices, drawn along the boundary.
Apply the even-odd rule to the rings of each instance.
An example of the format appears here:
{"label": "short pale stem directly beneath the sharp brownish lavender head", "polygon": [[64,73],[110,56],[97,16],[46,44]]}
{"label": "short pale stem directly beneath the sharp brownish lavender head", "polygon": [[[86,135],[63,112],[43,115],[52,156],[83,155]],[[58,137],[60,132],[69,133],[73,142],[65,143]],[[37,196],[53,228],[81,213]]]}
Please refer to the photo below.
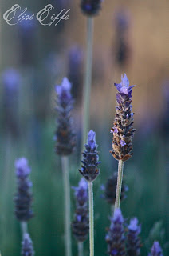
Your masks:
{"label": "short pale stem directly beneath the sharp brownish lavender head", "polygon": [[119,160],[118,165],[118,176],[117,176],[117,185],[116,185],[116,201],[115,201],[115,209],[120,208],[120,197],[121,197],[121,185],[123,180],[123,171],[124,171],[124,162]]}

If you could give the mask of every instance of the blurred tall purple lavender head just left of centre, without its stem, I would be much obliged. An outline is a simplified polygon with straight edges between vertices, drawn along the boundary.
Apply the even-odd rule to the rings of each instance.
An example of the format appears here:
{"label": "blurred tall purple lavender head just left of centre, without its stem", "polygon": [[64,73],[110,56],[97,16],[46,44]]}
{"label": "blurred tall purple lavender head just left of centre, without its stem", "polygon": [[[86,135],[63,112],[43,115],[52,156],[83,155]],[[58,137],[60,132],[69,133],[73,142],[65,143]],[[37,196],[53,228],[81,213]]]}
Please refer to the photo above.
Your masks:
{"label": "blurred tall purple lavender head just left of centre, without its stem", "polygon": [[57,92],[57,131],[55,147],[56,153],[69,155],[76,146],[76,138],[73,132],[73,120],[70,112],[73,109],[73,98],[70,93],[71,84],[67,78],[61,82],[61,86],[56,86]]}

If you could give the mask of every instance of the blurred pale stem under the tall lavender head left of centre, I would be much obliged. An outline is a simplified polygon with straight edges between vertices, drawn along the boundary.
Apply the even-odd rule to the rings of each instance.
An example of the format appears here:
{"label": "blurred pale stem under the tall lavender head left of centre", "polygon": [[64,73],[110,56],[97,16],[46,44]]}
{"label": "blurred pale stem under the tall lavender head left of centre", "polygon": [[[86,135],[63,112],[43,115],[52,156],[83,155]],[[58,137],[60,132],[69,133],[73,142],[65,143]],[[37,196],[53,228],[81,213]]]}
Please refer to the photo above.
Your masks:
{"label": "blurred pale stem under the tall lavender head left of centre", "polygon": [[69,184],[69,158],[61,157],[61,165],[64,179],[65,194],[65,255],[72,255],[71,231],[70,231],[70,184]]}

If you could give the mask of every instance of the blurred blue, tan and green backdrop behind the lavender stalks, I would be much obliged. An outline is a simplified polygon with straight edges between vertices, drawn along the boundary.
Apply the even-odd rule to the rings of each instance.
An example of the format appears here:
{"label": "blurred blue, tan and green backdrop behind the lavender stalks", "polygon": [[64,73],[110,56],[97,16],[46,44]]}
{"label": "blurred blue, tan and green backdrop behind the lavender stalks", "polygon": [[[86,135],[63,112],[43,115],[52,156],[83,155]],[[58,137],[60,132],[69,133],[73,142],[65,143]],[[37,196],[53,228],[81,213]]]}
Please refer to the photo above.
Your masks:
{"label": "blurred blue, tan and green backdrop behind the lavender stalks", "polygon": [[[55,13],[70,9],[68,21],[41,26],[36,19],[9,26],[2,14],[18,3],[29,14],[51,3]],[[20,254],[21,231],[14,217],[14,161],[25,156],[32,168],[33,210],[29,233],[37,255],[64,255],[61,158],[54,154],[54,86],[67,76],[73,83],[77,150],[71,156],[70,181],[77,186],[81,161],[81,115],[86,17],[78,0],[0,3],[0,250]],[[100,151],[100,176],[94,182],[96,255],[106,255],[104,240],[110,206],[101,198],[117,162],[109,153],[116,106],[114,82],[127,74],[133,89],[136,135],[134,155],[124,164],[128,198],[124,218],[142,225],[142,255],[159,240],[169,254],[169,2],[105,0],[95,18],[90,120]],[[75,202],[72,197],[72,217]],[[88,241],[85,255],[88,255]],[[73,255],[77,242],[73,238]]]}

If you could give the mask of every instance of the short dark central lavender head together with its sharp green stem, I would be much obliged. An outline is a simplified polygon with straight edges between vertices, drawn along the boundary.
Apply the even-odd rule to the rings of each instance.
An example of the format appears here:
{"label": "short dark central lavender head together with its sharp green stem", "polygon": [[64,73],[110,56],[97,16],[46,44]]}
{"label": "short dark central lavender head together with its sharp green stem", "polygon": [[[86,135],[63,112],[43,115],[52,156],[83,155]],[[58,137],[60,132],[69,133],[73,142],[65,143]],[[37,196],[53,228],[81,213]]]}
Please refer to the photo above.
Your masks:
{"label": "short dark central lavender head together with its sharp green stem", "polygon": [[87,144],[83,152],[82,167],[80,173],[88,182],[88,198],[89,198],[89,234],[90,234],[90,256],[94,256],[94,209],[93,209],[93,191],[92,182],[99,175],[100,165],[99,156],[96,145],[96,134],[93,130],[88,133]]}

